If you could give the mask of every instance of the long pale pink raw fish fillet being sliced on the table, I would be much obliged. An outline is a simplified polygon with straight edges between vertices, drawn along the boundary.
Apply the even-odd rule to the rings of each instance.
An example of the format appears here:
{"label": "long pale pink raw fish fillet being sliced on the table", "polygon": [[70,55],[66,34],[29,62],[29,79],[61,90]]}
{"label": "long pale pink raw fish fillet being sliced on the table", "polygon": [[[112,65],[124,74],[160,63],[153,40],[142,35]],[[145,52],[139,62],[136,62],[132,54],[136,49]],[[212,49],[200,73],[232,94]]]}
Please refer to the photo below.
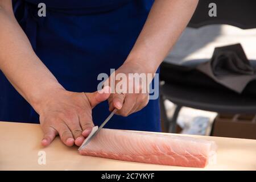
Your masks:
{"label": "long pale pink raw fish fillet being sliced on the table", "polygon": [[205,167],[216,160],[216,148],[212,141],[191,137],[101,129],[79,152],[130,162]]}

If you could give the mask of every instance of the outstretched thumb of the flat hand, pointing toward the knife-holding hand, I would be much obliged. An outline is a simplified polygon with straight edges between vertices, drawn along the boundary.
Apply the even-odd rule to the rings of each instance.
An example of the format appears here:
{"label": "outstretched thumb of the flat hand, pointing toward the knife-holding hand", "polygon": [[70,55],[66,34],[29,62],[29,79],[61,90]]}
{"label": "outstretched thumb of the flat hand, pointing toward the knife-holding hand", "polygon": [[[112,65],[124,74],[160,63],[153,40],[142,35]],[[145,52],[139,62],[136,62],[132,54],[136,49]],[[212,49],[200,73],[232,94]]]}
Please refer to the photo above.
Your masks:
{"label": "outstretched thumb of the flat hand, pointing toward the knife-holding hand", "polygon": [[89,99],[90,106],[95,107],[96,105],[100,104],[101,102],[107,100],[110,96],[110,87],[104,86],[104,88],[100,91],[96,91],[93,93],[85,93]]}

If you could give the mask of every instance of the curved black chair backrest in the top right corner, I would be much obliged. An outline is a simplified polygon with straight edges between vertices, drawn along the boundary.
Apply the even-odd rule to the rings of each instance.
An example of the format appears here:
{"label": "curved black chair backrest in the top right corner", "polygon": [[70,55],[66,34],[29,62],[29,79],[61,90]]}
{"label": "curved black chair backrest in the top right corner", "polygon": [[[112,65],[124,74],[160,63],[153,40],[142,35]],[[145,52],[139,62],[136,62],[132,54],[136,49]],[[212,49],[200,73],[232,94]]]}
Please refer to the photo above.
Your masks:
{"label": "curved black chair backrest in the top right corner", "polygon": [[[209,16],[209,5],[215,3],[217,16]],[[256,28],[255,0],[199,0],[188,26],[199,28],[209,24],[230,24],[243,29]]]}

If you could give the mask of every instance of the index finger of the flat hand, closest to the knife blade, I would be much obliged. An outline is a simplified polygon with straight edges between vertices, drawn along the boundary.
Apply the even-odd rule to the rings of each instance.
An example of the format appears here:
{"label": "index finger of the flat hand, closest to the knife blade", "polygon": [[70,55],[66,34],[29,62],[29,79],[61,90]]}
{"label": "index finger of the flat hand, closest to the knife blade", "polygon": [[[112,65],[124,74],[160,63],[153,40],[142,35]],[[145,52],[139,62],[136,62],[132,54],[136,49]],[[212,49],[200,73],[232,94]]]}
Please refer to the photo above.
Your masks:
{"label": "index finger of the flat hand, closest to the knife blade", "polygon": [[88,137],[90,131],[92,131],[92,127],[94,126],[92,121],[91,113],[82,113],[79,117],[80,125],[82,127],[82,136],[85,138]]}

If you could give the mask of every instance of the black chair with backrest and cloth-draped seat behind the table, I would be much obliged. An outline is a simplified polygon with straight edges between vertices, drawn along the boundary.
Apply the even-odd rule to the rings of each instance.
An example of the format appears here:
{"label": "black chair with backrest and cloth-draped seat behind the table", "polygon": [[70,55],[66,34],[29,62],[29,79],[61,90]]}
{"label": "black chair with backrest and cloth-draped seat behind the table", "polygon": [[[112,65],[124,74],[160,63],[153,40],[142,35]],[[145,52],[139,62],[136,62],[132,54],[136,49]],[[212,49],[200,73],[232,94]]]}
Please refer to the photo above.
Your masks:
{"label": "black chair with backrest and cloth-draped seat behind the table", "polygon": [[[209,3],[216,3],[216,17],[208,15]],[[256,28],[255,7],[254,0],[201,0],[188,26],[199,28],[209,24],[230,24],[242,29]],[[256,113],[256,80],[251,81],[242,94],[238,94],[191,69],[195,66],[193,64],[202,61],[205,60],[191,60],[189,63],[192,65],[163,62],[160,66],[160,80],[164,82],[160,84],[161,117],[164,127],[170,133],[176,131],[176,120],[183,106],[217,113]],[[251,63],[256,67],[256,61]],[[176,105],[172,118],[167,118],[164,100],[170,100]]]}

